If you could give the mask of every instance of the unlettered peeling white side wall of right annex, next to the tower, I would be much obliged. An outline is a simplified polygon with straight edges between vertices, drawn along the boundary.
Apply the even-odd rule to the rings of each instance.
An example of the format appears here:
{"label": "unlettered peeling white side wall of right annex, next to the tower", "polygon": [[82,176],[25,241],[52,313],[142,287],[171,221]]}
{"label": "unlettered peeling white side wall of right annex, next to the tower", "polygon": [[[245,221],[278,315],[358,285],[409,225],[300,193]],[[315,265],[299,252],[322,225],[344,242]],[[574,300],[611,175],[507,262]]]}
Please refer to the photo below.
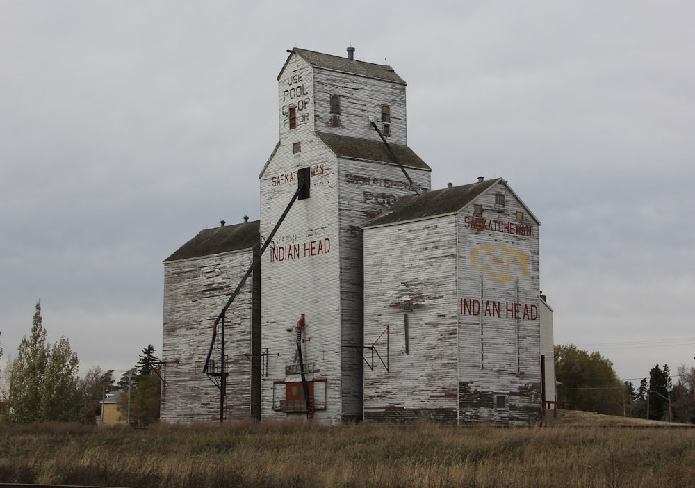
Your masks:
{"label": "unlettered peeling white side wall of right annex, next to the tower", "polygon": [[457,422],[456,238],[452,216],[365,229],[366,421]]}

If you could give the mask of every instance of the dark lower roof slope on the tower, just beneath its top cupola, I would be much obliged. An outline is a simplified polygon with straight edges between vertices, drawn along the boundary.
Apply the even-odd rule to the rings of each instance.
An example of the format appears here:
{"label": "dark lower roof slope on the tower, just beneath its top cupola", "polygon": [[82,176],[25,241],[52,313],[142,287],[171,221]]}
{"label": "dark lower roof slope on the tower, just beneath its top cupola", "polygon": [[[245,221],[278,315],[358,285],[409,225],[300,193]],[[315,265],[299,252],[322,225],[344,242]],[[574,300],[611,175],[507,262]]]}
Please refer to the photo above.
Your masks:
{"label": "dark lower roof slope on the tower, just beneath its top cupola", "polygon": [[[323,132],[317,132],[316,135],[340,158],[364,159],[366,161],[382,161],[395,164],[395,161],[393,161],[393,158],[386,150],[386,146],[380,140],[338,136]],[[395,154],[402,165],[409,168],[431,169],[409,147],[398,144],[389,144],[389,147],[391,147],[391,151],[393,151],[393,154]]]}

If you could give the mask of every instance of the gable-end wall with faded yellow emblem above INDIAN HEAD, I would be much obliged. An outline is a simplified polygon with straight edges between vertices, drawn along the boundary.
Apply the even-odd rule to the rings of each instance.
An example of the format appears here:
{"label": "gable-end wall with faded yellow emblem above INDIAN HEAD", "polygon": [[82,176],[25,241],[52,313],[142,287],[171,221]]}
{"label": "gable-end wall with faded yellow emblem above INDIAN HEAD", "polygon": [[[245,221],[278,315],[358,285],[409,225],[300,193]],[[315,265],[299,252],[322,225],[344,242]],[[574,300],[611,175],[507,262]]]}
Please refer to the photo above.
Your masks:
{"label": "gable-end wall with faded yellow emblem above INDIAN HEAD", "polygon": [[[516,220],[525,208],[505,184],[475,204],[480,217],[473,204],[458,214],[459,418],[534,422],[541,415],[539,226],[528,214]],[[507,396],[507,409],[496,409],[497,395]]]}

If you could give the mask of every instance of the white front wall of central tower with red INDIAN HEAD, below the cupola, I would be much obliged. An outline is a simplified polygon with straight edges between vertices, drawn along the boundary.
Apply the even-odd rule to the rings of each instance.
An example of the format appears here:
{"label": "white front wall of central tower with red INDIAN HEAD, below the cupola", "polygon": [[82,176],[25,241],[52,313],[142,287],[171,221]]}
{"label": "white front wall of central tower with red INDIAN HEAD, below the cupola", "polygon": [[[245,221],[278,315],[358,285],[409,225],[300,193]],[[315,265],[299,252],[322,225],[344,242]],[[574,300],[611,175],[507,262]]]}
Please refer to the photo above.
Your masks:
{"label": "white front wall of central tower with red INDIAN HEAD, below the cupola", "polygon": [[[313,136],[302,138],[302,151],[281,143],[261,177],[261,235],[268,236],[297,190],[292,177],[298,167],[313,168],[311,197],[297,200],[261,260],[261,347],[268,348],[268,376],[262,381],[263,418],[285,417],[273,409],[275,382],[300,381],[296,325],[305,314],[302,343],[305,364],[315,373],[308,380],[327,378],[326,409],[316,418],[328,423],[341,419],[340,289],[335,157]],[[280,183],[278,183],[280,181]],[[320,249],[319,249],[320,245]],[[318,370],[318,371],[317,371]]]}

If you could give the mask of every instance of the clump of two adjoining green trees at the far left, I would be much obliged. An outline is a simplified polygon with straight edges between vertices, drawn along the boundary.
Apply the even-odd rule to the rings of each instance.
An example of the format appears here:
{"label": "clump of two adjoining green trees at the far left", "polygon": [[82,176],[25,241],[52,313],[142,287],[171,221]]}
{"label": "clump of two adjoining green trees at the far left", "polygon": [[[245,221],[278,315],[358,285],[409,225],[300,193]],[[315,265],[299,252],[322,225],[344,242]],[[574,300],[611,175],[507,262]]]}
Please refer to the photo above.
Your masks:
{"label": "clump of two adjoining green trees at the far left", "polygon": [[8,420],[13,423],[79,421],[84,400],[79,388],[79,359],[70,341],[47,343],[36,303],[31,334],[24,336],[10,363]]}

